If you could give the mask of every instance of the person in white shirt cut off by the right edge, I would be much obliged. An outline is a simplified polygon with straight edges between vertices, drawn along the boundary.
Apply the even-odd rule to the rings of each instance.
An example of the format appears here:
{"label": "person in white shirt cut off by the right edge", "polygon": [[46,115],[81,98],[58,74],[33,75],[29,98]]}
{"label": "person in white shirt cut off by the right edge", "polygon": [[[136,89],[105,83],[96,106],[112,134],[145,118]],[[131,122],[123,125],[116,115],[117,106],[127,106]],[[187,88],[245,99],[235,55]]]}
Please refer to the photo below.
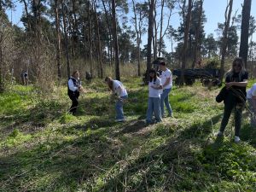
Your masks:
{"label": "person in white shirt cut off by the right edge", "polygon": [[252,112],[251,125],[256,126],[256,83],[253,84],[251,89],[247,91],[247,101],[249,103],[249,108]]}

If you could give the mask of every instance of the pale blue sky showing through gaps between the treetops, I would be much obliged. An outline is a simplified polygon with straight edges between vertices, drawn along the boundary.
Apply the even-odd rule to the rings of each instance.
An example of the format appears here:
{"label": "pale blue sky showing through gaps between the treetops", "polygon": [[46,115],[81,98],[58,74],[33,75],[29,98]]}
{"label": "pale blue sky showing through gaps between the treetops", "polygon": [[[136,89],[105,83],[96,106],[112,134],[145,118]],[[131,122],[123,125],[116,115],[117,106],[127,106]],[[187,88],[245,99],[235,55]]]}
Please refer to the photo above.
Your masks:
{"label": "pale blue sky showing through gaps between the treetops", "polygon": [[[143,0],[139,0],[143,1]],[[129,5],[131,5],[131,0],[128,0]],[[215,30],[218,28],[218,22],[224,22],[224,11],[226,8],[228,1],[227,0],[204,0],[203,8],[205,10],[205,15],[207,17],[207,22],[205,23],[205,32],[206,35],[213,33],[213,35],[216,37],[217,33]],[[235,14],[237,10],[237,15],[241,14],[241,4],[243,3],[243,0],[234,0],[233,2],[233,11],[232,15]],[[16,8],[12,11],[8,10],[7,14],[9,15],[9,20],[12,20],[12,23],[18,26],[22,26],[22,23],[20,22],[20,16],[22,15],[23,11],[23,5],[19,2],[15,3]],[[167,13],[166,13],[167,14]],[[256,18],[256,0],[252,0],[252,8],[251,8],[251,15],[253,15]],[[177,28],[180,23],[179,16],[172,15],[170,24]],[[240,33],[240,32],[239,32]],[[238,33],[238,36],[240,34]],[[143,37],[143,44],[147,44],[146,36]],[[256,41],[256,35],[254,34],[253,40]],[[171,43],[168,39],[165,39],[166,42],[166,50],[171,51]]]}

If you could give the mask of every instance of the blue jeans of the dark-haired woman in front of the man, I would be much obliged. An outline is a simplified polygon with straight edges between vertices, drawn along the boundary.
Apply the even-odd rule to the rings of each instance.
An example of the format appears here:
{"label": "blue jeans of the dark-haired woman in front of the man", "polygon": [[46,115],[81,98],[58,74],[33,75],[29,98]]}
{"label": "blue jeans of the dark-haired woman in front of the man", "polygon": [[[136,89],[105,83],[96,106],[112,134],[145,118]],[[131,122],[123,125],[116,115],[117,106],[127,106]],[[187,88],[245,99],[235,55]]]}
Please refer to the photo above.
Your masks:
{"label": "blue jeans of the dark-haired woman in front of the man", "polygon": [[161,121],[160,114],[160,97],[148,97],[147,123],[152,122],[152,115],[157,122]]}

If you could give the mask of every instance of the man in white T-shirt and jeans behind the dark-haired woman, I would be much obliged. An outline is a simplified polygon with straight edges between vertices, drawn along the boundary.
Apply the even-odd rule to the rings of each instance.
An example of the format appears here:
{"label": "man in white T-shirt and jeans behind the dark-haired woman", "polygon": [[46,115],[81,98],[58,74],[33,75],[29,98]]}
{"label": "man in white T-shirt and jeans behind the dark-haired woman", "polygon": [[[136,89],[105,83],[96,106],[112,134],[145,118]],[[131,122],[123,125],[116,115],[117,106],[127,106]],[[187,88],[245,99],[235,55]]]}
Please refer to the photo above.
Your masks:
{"label": "man in white T-shirt and jeans behind the dark-haired woman", "polygon": [[162,71],[162,73],[160,74],[160,79],[163,86],[163,90],[160,96],[161,116],[164,117],[164,114],[165,114],[164,104],[166,104],[168,117],[172,117],[172,108],[169,102],[169,93],[172,90],[172,72],[170,69],[166,67],[165,61],[160,61],[160,70]]}

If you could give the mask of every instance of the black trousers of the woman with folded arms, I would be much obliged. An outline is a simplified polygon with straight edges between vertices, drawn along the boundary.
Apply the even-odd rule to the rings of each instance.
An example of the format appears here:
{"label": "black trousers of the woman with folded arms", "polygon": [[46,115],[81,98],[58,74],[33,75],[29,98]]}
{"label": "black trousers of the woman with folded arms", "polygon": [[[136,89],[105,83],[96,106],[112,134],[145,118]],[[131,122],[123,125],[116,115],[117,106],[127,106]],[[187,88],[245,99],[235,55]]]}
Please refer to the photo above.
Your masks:
{"label": "black trousers of the woman with folded arms", "polygon": [[224,102],[224,116],[221,121],[219,131],[224,131],[226,125],[229,123],[230,114],[232,110],[235,110],[235,136],[239,137],[241,129],[241,115],[244,108],[244,103],[236,102],[234,96],[227,96]]}

